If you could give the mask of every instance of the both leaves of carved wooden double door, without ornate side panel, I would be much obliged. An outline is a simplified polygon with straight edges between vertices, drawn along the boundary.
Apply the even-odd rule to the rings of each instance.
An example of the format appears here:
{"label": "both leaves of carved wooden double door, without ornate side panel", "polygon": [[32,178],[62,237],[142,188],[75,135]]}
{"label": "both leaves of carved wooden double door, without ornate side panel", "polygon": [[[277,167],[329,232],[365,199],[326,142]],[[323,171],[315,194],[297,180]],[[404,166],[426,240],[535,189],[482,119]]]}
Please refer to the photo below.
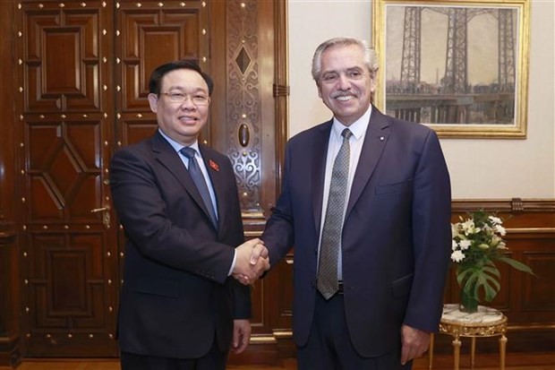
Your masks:
{"label": "both leaves of carved wooden double door, without ornate side panel", "polygon": [[146,99],[150,71],[208,55],[205,4],[170,3],[18,6],[27,357],[117,356],[124,237],[110,209],[109,159],[156,127]]}

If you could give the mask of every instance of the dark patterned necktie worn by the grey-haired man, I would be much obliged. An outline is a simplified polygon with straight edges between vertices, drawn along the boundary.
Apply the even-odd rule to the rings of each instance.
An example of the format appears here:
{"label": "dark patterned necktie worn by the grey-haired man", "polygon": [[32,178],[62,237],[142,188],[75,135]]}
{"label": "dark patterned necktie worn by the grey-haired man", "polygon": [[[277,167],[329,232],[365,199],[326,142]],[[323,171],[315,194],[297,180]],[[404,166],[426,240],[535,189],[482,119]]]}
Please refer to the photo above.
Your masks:
{"label": "dark patterned necktie worn by the grey-haired man", "polygon": [[320,244],[320,261],[318,265],[318,290],[329,299],[338,289],[337,259],[341,248],[341,230],[345,211],[347,181],[349,178],[349,159],[351,150],[349,138],[353,133],[348,128],[343,130],[343,142],[333,163],[331,182],[329,183],[328,207]]}

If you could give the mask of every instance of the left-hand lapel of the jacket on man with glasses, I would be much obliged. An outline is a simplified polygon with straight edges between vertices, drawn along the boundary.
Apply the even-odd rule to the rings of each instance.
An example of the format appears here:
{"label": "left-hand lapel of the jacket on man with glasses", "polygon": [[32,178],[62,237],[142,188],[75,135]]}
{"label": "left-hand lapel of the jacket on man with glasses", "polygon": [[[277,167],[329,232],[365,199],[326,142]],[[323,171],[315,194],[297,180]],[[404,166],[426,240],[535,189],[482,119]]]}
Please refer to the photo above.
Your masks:
{"label": "left-hand lapel of the jacket on man with glasses", "polygon": [[167,168],[167,170],[175,176],[181,185],[184,186],[185,191],[190,194],[192,200],[196,202],[199,207],[201,207],[202,212],[204,212],[210,224],[212,224],[209,212],[204,205],[204,201],[202,201],[202,197],[197,189],[197,186],[194,185],[194,182],[192,181],[189,171],[187,171],[183,161],[179,158],[179,154],[177,154],[170,143],[167,142],[166,139],[158,133],[158,131],[152,138],[152,151],[155,153],[155,157],[158,162]]}

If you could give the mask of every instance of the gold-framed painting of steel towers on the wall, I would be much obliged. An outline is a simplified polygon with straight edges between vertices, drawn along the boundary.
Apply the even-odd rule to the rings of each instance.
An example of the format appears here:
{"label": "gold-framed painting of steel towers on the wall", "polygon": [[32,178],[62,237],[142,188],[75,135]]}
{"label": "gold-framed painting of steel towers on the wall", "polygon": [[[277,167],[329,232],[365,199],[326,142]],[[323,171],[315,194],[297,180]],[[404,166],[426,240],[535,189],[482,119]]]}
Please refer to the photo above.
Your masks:
{"label": "gold-framed painting of steel towers on the wall", "polygon": [[529,0],[374,0],[374,104],[440,137],[525,139]]}

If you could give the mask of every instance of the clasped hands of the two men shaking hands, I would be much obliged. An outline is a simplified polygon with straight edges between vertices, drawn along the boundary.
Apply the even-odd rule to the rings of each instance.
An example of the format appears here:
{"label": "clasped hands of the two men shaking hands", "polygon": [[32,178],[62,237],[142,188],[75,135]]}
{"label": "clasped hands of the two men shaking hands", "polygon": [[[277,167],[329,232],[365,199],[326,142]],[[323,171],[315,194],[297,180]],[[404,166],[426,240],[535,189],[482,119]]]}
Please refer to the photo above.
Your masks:
{"label": "clasped hands of the two men shaking hands", "polygon": [[236,280],[244,285],[251,285],[268,270],[268,248],[262,240],[251,239],[235,248],[235,267],[232,275]]}

